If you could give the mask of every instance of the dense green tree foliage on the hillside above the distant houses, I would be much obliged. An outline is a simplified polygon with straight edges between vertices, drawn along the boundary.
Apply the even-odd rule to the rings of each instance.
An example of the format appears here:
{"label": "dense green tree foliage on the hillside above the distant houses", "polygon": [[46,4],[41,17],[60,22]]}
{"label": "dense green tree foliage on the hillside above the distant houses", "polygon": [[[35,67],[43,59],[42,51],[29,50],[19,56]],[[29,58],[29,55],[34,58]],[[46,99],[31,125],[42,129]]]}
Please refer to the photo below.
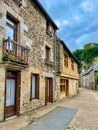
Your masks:
{"label": "dense green tree foliage on the hillside above the distant houses", "polygon": [[83,49],[77,49],[73,54],[80,63],[85,62],[86,65],[90,65],[95,57],[98,57],[98,44],[92,42],[85,44]]}

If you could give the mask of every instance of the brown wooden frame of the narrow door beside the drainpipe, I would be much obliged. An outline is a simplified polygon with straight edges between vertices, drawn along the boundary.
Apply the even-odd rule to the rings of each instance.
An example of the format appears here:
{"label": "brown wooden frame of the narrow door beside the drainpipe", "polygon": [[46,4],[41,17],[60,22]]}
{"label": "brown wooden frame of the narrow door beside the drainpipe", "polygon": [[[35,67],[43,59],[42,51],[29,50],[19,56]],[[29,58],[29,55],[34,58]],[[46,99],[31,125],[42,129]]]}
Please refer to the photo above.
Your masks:
{"label": "brown wooden frame of the narrow door beside the drainpipe", "polygon": [[[50,90],[49,90],[49,101],[47,101],[48,96],[48,79],[50,81]],[[52,77],[45,77],[45,105],[47,105],[47,102],[53,103],[53,78]]]}

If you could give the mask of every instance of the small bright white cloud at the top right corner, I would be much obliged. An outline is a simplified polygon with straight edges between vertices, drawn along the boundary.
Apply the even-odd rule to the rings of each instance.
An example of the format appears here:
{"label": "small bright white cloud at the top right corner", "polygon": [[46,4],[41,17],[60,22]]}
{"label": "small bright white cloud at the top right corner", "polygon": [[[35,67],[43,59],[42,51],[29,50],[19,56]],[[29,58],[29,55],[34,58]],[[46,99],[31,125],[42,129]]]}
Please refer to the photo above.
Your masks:
{"label": "small bright white cloud at the top right corner", "polygon": [[90,1],[87,1],[87,0],[85,0],[84,2],[82,2],[81,7],[86,12],[91,12],[94,9],[93,3],[90,2]]}

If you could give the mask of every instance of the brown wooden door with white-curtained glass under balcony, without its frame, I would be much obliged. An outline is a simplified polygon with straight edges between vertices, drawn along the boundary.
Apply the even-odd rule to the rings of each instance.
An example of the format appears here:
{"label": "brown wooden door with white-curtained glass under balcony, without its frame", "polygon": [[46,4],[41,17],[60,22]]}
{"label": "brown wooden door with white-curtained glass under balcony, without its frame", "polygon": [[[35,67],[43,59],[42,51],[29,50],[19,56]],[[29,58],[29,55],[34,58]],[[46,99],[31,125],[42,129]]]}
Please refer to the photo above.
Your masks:
{"label": "brown wooden door with white-curtained glass under balcony, without its frame", "polygon": [[16,78],[6,80],[5,117],[16,114]]}

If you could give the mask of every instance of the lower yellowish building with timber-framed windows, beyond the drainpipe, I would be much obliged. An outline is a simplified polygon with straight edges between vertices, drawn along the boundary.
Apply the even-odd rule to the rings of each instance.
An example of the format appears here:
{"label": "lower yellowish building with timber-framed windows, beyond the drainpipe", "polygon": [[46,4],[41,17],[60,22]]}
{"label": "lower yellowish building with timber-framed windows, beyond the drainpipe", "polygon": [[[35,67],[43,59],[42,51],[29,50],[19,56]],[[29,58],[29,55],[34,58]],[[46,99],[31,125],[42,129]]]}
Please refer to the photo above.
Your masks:
{"label": "lower yellowish building with timber-framed windows, beyond the drainpipe", "polygon": [[56,72],[58,99],[78,93],[79,62],[67,48],[65,43],[56,38]]}

